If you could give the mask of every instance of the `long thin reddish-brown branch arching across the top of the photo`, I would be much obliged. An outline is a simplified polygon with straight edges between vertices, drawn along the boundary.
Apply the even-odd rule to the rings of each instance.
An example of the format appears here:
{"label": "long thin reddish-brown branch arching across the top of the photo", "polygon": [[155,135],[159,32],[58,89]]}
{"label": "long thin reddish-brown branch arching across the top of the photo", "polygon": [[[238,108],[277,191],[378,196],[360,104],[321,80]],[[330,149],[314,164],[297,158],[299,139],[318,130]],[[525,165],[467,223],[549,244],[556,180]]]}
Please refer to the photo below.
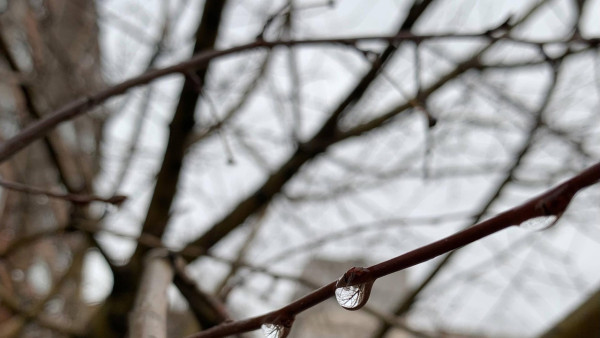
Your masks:
{"label": "long thin reddish-brown branch arching across the top of the photo", "polygon": [[600,38],[591,38],[591,39],[583,39],[578,36],[573,36],[570,39],[564,40],[524,40],[512,38],[509,36],[492,36],[489,32],[493,30],[488,30],[483,33],[477,34],[438,34],[438,35],[415,35],[410,32],[401,32],[395,35],[385,35],[385,36],[362,36],[362,37],[354,37],[354,38],[341,38],[341,39],[305,39],[305,40],[278,40],[278,41],[264,41],[257,40],[251,43],[247,43],[244,45],[239,45],[235,47],[231,47],[223,50],[209,50],[206,52],[201,52],[192,57],[187,61],[183,61],[181,63],[156,69],[152,71],[148,71],[142,75],[134,77],[129,80],[125,80],[119,84],[116,84],[112,87],[106,88],[96,94],[89,95],[86,97],[81,97],[77,100],[74,100],[62,108],[45,115],[44,118],[30,124],[28,127],[23,129],[19,134],[14,137],[6,140],[5,142],[0,144],[0,163],[4,162],[6,159],[11,157],[16,152],[25,148],[31,142],[43,137],[48,131],[63,123],[65,121],[71,120],[81,114],[84,114],[89,109],[96,107],[109,98],[113,96],[117,96],[125,93],[131,88],[139,87],[141,85],[148,84],[156,79],[165,77],[171,74],[185,74],[191,70],[199,70],[204,69],[208,62],[212,59],[240,53],[243,51],[253,50],[253,49],[270,49],[277,46],[349,46],[355,47],[355,45],[359,42],[371,42],[371,41],[379,41],[379,42],[400,42],[400,41],[415,41],[420,42],[424,40],[439,40],[439,39],[488,39],[488,40],[507,40],[513,41],[515,43],[528,44],[534,46],[544,46],[547,44],[558,44],[562,43],[565,45],[569,45],[571,43],[584,43],[590,46],[597,46],[600,44]]}

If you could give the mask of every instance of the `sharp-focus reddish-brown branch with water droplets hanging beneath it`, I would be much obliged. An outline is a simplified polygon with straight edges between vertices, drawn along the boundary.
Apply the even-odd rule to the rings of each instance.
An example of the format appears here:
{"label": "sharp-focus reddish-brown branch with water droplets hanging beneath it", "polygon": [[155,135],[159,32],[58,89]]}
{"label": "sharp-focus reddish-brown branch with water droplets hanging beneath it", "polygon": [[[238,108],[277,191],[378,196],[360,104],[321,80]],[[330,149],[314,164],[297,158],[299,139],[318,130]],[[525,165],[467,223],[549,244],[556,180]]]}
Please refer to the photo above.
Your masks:
{"label": "sharp-focus reddish-brown branch with water droplets hanging beneath it", "polygon": [[[471,228],[460,231],[452,236],[433,242],[416,250],[407,252],[388,261],[373,265],[366,269],[366,273],[355,275],[353,284],[374,281],[385,275],[406,269],[433,259],[439,255],[450,252],[467,244],[473,243],[488,235],[524,221],[541,216],[560,216],[573,196],[580,190],[595,184],[600,180],[600,163],[584,170],[580,174],[563,182],[525,203],[500,213]],[[352,270],[352,269],[351,269]],[[214,328],[199,332],[190,338],[225,337],[253,331],[264,323],[278,323],[293,317],[333,296],[336,282],[331,282],[320,289],[262,316],[253,317],[236,322],[221,324]]]}

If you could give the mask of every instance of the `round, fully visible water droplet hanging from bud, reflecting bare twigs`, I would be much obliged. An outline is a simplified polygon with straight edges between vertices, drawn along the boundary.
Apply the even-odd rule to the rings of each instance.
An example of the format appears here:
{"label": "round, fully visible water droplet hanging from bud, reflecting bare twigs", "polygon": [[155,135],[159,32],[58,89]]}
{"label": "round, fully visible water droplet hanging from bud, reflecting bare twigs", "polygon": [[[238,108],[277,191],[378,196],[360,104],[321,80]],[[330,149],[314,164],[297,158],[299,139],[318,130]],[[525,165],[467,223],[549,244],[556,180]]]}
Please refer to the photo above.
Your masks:
{"label": "round, fully visible water droplet hanging from bud, reflecting bare twigs", "polygon": [[353,280],[357,277],[368,274],[369,270],[365,268],[352,268],[348,270],[336,283],[335,299],[338,304],[346,310],[358,310],[369,300],[373,282],[369,281],[361,284],[354,284]]}

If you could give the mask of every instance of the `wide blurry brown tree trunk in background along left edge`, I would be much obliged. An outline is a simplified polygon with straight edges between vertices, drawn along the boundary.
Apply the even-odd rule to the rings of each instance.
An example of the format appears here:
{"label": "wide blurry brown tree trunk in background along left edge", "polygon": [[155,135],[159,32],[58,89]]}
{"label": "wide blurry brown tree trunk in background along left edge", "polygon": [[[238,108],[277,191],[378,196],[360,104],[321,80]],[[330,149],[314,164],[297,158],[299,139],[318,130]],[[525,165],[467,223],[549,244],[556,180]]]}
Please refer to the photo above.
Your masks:
{"label": "wide blurry brown tree trunk in background along left edge", "polygon": [[[0,83],[0,139],[104,85],[93,1],[8,1],[6,6],[0,16],[0,70],[11,76]],[[47,190],[90,193],[98,171],[104,118],[98,110],[53,131],[0,165],[0,175]],[[44,312],[44,304],[26,300],[56,299],[64,304],[58,312],[67,322],[81,320],[82,262],[71,257],[74,248],[87,246],[87,240],[63,230],[88,217],[87,209],[8,190],[2,191],[1,199],[2,247],[48,233],[22,249],[3,252],[6,257],[0,261],[0,269],[13,278],[3,279],[2,289],[23,309]],[[70,267],[71,261],[79,266]],[[35,269],[46,271],[48,280],[38,278],[32,283],[29,275]],[[68,276],[63,276],[67,271]],[[56,293],[46,294],[48,290]],[[1,311],[0,321],[22,315],[15,309]],[[40,325],[28,325],[35,318],[23,318],[25,325],[14,334],[28,328],[25,336],[52,335]]]}

